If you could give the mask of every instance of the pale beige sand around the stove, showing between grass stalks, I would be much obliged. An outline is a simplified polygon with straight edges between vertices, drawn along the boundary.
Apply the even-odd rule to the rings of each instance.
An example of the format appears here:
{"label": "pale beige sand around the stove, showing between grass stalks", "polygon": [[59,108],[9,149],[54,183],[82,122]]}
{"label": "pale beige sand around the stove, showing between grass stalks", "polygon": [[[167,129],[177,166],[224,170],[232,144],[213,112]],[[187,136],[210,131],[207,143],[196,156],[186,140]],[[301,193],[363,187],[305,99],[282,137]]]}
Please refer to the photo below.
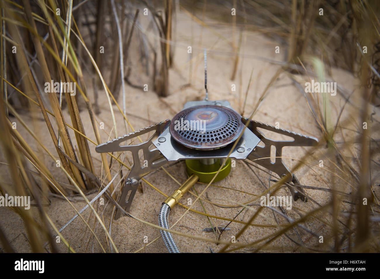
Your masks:
{"label": "pale beige sand around the stove, showing between grass stalks", "polygon": [[[203,70],[203,48],[209,51],[207,56],[207,88],[209,90],[209,99],[223,99],[231,103],[231,106],[241,112],[241,100],[244,99],[245,90],[247,88],[250,73],[253,69],[252,84],[247,95],[247,102],[245,106],[244,116],[249,116],[252,109],[255,107],[258,99],[261,96],[266,85],[269,83],[271,78],[276,73],[279,68],[278,65],[269,63],[269,60],[284,61],[286,54],[286,46],[282,46],[278,42],[269,39],[263,35],[254,32],[244,32],[243,43],[241,47],[241,59],[239,61],[237,77],[234,81],[230,80],[231,72],[233,69],[234,54],[233,50],[227,42],[223,39],[218,38],[215,34],[217,32],[220,36],[225,38],[231,37],[231,27],[230,25],[211,25],[214,32],[211,32],[207,28],[202,28],[200,25],[193,22],[186,14],[181,13],[179,22],[177,25],[177,45],[174,54],[174,67],[169,71],[169,88],[170,95],[166,98],[159,98],[157,94],[152,90],[152,84],[148,83],[148,91],[141,91],[136,88],[132,88],[126,85],[127,92],[127,117],[133,128],[141,129],[146,126],[152,125],[159,121],[165,119],[171,119],[177,112],[179,112],[187,101],[194,101],[204,98],[204,70]],[[207,22],[207,21],[206,21]],[[202,34],[202,35],[200,35]],[[200,37],[201,36],[201,37]],[[238,36],[236,36],[237,38]],[[199,43],[200,42],[200,43]],[[192,64],[192,86],[184,87],[183,85],[189,83],[189,64],[187,46],[192,46],[193,64]],[[280,53],[275,53],[275,46],[280,46]],[[136,51],[135,50],[131,51]],[[353,76],[340,69],[332,69],[333,76],[330,77],[342,87],[344,87],[348,92],[351,92],[355,88],[355,79]],[[92,86],[90,76],[87,75],[86,81],[89,86],[89,95],[92,96]],[[240,75],[241,81],[240,82]],[[298,77],[299,81],[304,82],[303,77]],[[137,82],[137,81],[136,81]],[[144,82],[144,81],[142,81]],[[144,82],[145,83],[145,82]],[[231,85],[236,85],[236,91],[231,91]],[[239,92],[242,92],[241,94]],[[340,108],[344,104],[344,99],[338,94],[334,98],[330,98],[332,101],[332,119],[336,121],[336,115],[339,113]],[[106,100],[106,95],[104,90],[99,89],[99,101],[100,101],[100,114],[97,116],[98,122],[104,122],[105,129],[101,131],[101,138],[103,142],[108,140],[108,135],[112,130],[112,120],[111,114],[109,112],[109,106]],[[122,105],[122,96],[120,93],[119,104]],[[126,133],[123,126],[123,118],[121,113],[115,105],[112,106],[117,123],[117,136],[121,136]],[[354,115],[355,108],[350,104],[347,105],[345,112],[342,114],[342,119],[348,119],[347,128],[356,129],[360,126],[359,119],[350,119],[349,115]],[[64,110],[64,116],[70,123],[70,117],[68,115],[67,109]],[[86,130],[87,136],[91,139],[95,139],[92,132],[92,127],[89,121],[89,116],[86,110],[81,112],[84,129]],[[375,115],[378,117],[378,115]],[[28,125],[33,125],[30,118],[24,115]],[[317,129],[315,125],[315,120],[312,117],[309,106],[307,105],[306,99],[302,92],[293,84],[291,79],[286,74],[281,74],[279,79],[275,82],[274,86],[269,89],[266,98],[262,102],[258,109],[258,112],[254,116],[255,120],[268,123],[270,125],[276,125],[279,123],[280,128],[289,129],[291,131],[300,132],[308,136],[313,136],[320,138],[321,132]],[[335,122],[333,122],[335,123]],[[38,132],[41,135],[41,139],[44,140],[47,148],[51,150],[54,154],[54,147],[51,141],[49,141],[49,135],[46,129],[46,125],[43,120],[37,122]],[[55,175],[56,179],[59,181],[67,182],[67,178],[58,168],[55,167],[55,162],[53,162],[46,154],[40,153],[34,140],[28,135],[22,125],[17,126],[18,131],[28,139],[30,145],[34,148],[36,152],[41,154],[49,170]],[[128,129],[127,132],[131,132]],[[70,131],[72,138],[74,139],[74,134]],[[111,132],[112,137],[114,137],[114,131]],[[353,132],[344,131],[345,138],[353,135]],[[338,137],[342,137],[339,135]],[[143,136],[142,139],[146,139]],[[354,146],[353,146],[354,147]],[[357,147],[356,147],[357,148]],[[306,154],[307,150],[310,148],[303,147],[288,147],[284,148],[283,156],[302,159]],[[95,146],[90,143],[90,150],[94,156],[94,164],[98,173],[101,173],[100,155],[95,152]],[[357,150],[357,149],[356,149]],[[313,152],[313,158],[308,158],[307,161],[310,164],[318,165],[319,160],[325,160],[326,167],[333,167],[332,162],[329,162],[322,153],[326,152],[325,147],[320,147],[317,151]],[[346,153],[350,153],[347,150]],[[352,150],[351,150],[352,152]],[[0,154],[0,158],[4,161],[3,155]],[[293,159],[284,159],[285,163],[289,168],[296,165],[297,161]],[[127,162],[128,164],[128,162]],[[310,165],[309,165],[310,166]],[[2,179],[5,181],[11,181],[6,166],[0,166]],[[179,183],[182,183],[187,178],[185,172],[185,163],[179,162],[173,166],[166,166],[165,169],[176,178]],[[114,167],[112,171],[112,176],[117,170],[117,166]],[[264,185],[260,180],[268,187],[269,175],[263,171],[260,171],[253,167],[253,170],[257,174],[250,170],[247,165],[242,161],[236,162],[236,167],[233,167],[230,175],[222,181],[213,183],[216,186],[222,186],[225,188],[218,188],[215,186],[210,186],[205,193],[206,198],[210,199],[212,202],[220,204],[233,204],[241,203],[246,200],[253,199],[253,195],[260,195],[261,192],[265,190]],[[124,169],[123,173],[127,170]],[[308,167],[301,166],[296,172],[298,180],[303,185],[316,186],[321,188],[330,188],[331,185],[336,185],[344,191],[351,192],[347,186],[347,183],[334,178],[329,172],[323,171],[318,167]],[[102,173],[104,175],[104,171]],[[169,177],[162,169],[159,169],[153,173],[147,175],[146,180],[153,184],[157,189],[165,194],[171,194],[177,187],[178,184],[171,177]],[[260,180],[259,180],[260,178]],[[273,182],[272,182],[273,183]],[[378,183],[377,183],[378,184]],[[196,184],[196,191],[199,193],[205,188],[204,184]],[[230,188],[230,189],[226,189]],[[239,190],[233,191],[233,189]],[[378,192],[378,189],[375,189]],[[313,200],[320,203],[321,205],[327,203],[331,199],[331,194],[328,192],[317,191],[317,190],[306,190],[307,194],[312,197]],[[87,195],[88,199],[95,197],[97,192]],[[283,188],[279,191],[279,195],[289,195],[288,189]],[[78,197],[78,196],[76,196]],[[186,203],[187,199],[191,198],[195,200],[194,195],[187,193],[181,202]],[[63,199],[58,197],[50,197],[50,205],[45,206],[47,214],[51,217],[57,228],[65,225],[74,215],[75,212],[71,206]],[[158,212],[160,210],[161,203],[165,200],[165,197],[158,191],[150,187],[146,183],[142,183],[142,187],[137,191],[133,204],[131,206],[131,214],[136,218],[140,218],[144,221],[150,222],[152,224],[158,223]],[[86,203],[83,200],[73,201],[73,205],[80,210]],[[220,208],[213,206],[207,201],[203,201],[204,208],[209,214],[222,216],[224,218],[234,218],[241,208]],[[302,210],[312,210],[316,208],[316,205],[312,202],[302,202],[298,200],[293,203],[293,206],[300,208]],[[99,205],[95,202],[95,208],[98,213],[101,214],[104,205]],[[258,208],[258,206],[252,206],[252,210],[243,211],[236,220],[247,222],[252,216],[253,212]],[[193,205],[193,209],[203,212],[203,208],[199,202]],[[38,216],[38,211],[36,207],[32,207],[34,216]],[[341,210],[349,210],[349,206],[342,205]],[[264,208],[261,211],[262,214],[258,216],[254,223],[258,225],[273,225],[275,219],[273,213],[268,208]],[[106,226],[109,225],[110,216],[112,213],[112,207],[108,205],[102,215]],[[169,216],[169,223],[173,224],[176,222],[182,214],[185,213],[185,209],[181,206],[176,206]],[[295,211],[286,211],[288,217],[292,219],[299,218],[299,215]],[[82,213],[85,220],[89,220],[90,226],[94,226],[94,215],[90,214],[90,210],[87,209]],[[326,213],[320,213],[318,216],[325,220],[326,222],[332,222],[331,216]],[[287,220],[276,213],[280,224],[288,224]],[[228,221],[212,219],[212,224],[218,227],[225,226]],[[8,208],[0,208],[0,224],[3,231],[5,232],[8,240],[11,241],[12,247],[18,252],[31,252],[30,245],[27,240],[27,233],[24,224],[13,211]],[[321,221],[317,219],[310,219],[310,221],[303,223],[305,227],[321,235],[329,235],[329,228]],[[188,212],[177,225],[173,228],[181,233],[188,235],[195,235],[198,237],[208,238],[215,240],[215,234],[210,232],[204,232],[203,229],[209,228],[209,220],[206,216],[202,216],[197,213]],[[222,233],[220,240],[228,242],[231,241],[233,236],[235,236],[239,230],[244,227],[244,224],[232,222],[229,225],[230,231]],[[105,247],[106,251],[109,252],[108,244],[106,242],[105,233],[100,225],[95,226],[96,233]],[[245,232],[237,239],[237,243],[250,243],[256,240],[260,240],[264,236],[270,235],[278,231],[279,229],[274,227],[265,226],[250,226]],[[52,231],[52,230],[51,230]],[[53,231],[52,231],[53,233]],[[299,234],[299,236],[298,236]],[[62,235],[70,243],[70,246],[76,252],[101,252],[101,248],[97,241],[91,238],[91,233],[86,227],[84,222],[80,218],[76,218],[66,229],[63,230]],[[118,220],[112,221],[111,235],[114,243],[116,244],[119,252],[135,252],[139,249],[140,252],[167,252],[166,247],[161,239],[158,229],[150,227],[149,225],[142,224],[141,222],[129,218],[122,217]],[[318,238],[312,236],[310,233],[298,229],[290,230],[287,236],[299,242],[299,237],[301,237],[304,244],[308,247],[319,247],[320,246]],[[281,235],[272,241],[269,246],[262,249],[261,251],[274,251],[274,252],[305,252],[306,249],[299,247],[288,239],[286,235]],[[154,241],[158,238],[156,241]],[[174,239],[177,242],[181,252],[217,252],[221,249],[223,245],[217,245],[215,243],[206,242],[202,240],[196,240],[184,236],[175,235]],[[147,245],[144,240],[154,241],[153,243]],[[2,246],[0,245],[0,248]],[[61,242],[57,243],[57,247],[60,252],[67,252],[67,247]],[[240,250],[240,252],[249,252],[253,249],[245,248]],[[51,251],[47,247],[47,251]]]}

